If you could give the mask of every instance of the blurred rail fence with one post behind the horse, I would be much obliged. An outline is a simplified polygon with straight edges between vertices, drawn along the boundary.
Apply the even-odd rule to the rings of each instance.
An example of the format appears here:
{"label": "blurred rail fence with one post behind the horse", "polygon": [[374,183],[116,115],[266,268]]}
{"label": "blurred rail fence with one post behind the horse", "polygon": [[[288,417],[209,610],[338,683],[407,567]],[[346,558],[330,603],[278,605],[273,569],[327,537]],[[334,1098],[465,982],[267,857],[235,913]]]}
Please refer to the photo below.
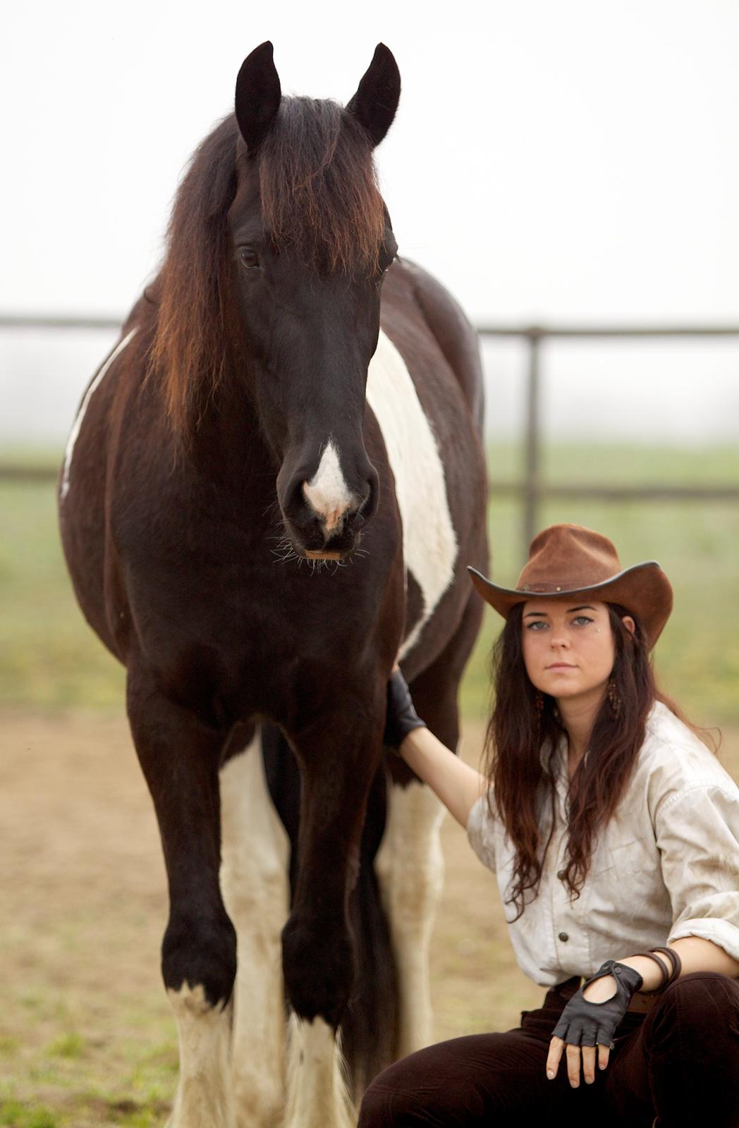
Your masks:
{"label": "blurred rail fence with one post behind the horse", "polygon": [[[121,318],[106,316],[59,316],[0,314],[0,329],[117,329]],[[500,482],[491,481],[490,492],[494,496],[518,497],[522,502],[522,555],[528,555],[528,546],[538,527],[540,504],[552,497],[587,497],[604,502],[637,500],[654,501],[738,501],[739,486],[715,485],[693,486],[652,484],[597,485],[572,483],[548,483],[542,476],[542,388],[545,378],[542,345],[557,340],[624,340],[624,338],[716,338],[729,337],[739,341],[738,325],[481,325],[481,338],[514,338],[527,345],[526,364],[526,415],[524,433],[524,472],[520,478]],[[47,467],[19,466],[0,461],[0,481],[37,482],[50,481],[55,472]]]}

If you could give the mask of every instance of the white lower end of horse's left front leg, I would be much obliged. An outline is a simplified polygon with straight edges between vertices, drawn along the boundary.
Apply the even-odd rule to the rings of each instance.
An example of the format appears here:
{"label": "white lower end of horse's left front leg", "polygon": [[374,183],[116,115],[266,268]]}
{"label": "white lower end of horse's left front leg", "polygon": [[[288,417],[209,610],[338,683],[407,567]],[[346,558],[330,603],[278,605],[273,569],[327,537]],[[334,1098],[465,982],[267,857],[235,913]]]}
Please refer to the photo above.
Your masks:
{"label": "white lower end of horse's left front leg", "polygon": [[203,988],[168,990],[179,1037],[179,1083],[169,1128],[235,1128],[229,1076],[229,1007],[211,1006]]}

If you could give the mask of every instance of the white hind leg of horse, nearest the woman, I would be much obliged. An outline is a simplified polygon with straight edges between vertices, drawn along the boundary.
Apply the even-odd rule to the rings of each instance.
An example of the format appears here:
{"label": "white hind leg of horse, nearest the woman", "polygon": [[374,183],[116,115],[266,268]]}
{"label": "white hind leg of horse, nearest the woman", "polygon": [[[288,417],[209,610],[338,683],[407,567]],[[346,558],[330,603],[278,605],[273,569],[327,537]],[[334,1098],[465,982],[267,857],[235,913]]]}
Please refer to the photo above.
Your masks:
{"label": "white hind leg of horse, nearest the woman", "polygon": [[398,975],[398,1056],[432,1040],[429,944],[443,884],[439,831],[445,810],[430,787],[390,786],[375,870]]}

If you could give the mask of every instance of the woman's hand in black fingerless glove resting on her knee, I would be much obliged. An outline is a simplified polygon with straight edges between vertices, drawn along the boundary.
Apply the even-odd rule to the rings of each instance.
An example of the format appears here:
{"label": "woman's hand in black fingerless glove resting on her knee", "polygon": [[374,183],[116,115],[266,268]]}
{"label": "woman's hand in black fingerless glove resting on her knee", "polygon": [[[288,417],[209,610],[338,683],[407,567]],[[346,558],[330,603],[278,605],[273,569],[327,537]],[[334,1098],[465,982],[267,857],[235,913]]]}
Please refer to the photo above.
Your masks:
{"label": "woman's hand in black fingerless glove resting on her knee", "polygon": [[546,1075],[552,1081],[560,1068],[562,1052],[568,1060],[568,1077],[573,1089],[580,1084],[580,1065],[587,1084],[596,1078],[598,1065],[605,1069],[613,1046],[614,1032],[628,1010],[632,996],[643,979],[625,963],[606,960],[595,976],[566,1004],[554,1028]]}

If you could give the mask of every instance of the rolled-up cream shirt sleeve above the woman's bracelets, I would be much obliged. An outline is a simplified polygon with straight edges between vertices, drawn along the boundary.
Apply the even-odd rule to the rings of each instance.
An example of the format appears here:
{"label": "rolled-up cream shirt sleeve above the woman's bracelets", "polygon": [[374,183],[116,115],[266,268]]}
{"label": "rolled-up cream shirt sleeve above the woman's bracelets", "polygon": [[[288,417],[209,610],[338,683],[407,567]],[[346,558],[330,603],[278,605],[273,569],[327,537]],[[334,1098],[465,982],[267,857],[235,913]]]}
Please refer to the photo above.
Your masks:
{"label": "rolled-up cream shirt sleeve above the woman's bracelets", "polygon": [[660,809],[656,831],[672,902],[668,943],[701,936],[739,960],[739,791],[684,790]]}

